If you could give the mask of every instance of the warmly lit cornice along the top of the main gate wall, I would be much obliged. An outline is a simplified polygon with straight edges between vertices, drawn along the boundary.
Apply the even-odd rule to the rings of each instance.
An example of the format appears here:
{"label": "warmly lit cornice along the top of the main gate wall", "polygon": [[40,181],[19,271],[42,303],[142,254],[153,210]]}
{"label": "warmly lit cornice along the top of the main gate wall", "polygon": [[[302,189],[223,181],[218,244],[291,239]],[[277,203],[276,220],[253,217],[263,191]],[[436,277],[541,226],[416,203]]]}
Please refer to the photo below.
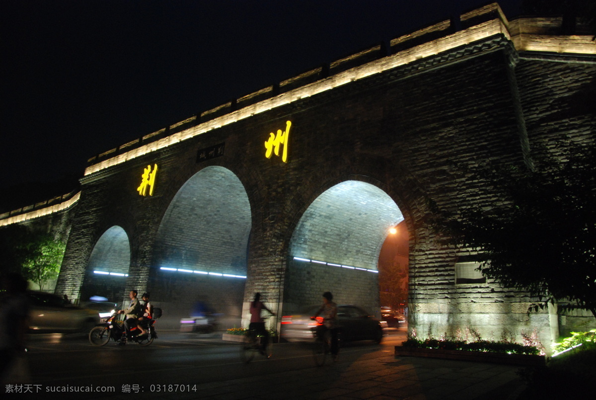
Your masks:
{"label": "warmly lit cornice along the top of the main gate wall", "polygon": [[[126,153],[111,157],[110,159],[98,162],[85,169],[85,176],[100,170],[110,168],[111,166],[124,163],[136,157],[144,156],[156,150],[160,150],[186,139],[193,138],[213,129],[221,128],[239,120],[252,117],[256,114],[264,113],[272,108],[285,106],[294,101],[311,97],[313,95],[325,92],[355,80],[364,79],[371,75],[385,72],[387,70],[395,69],[400,66],[412,63],[413,61],[422,58],[432,57],[442,52],[449,51],[462,45],[471,44],[476,41],[481,41],[495,35],[502,35],[506,39],[513,42],[517,51],[536,51],[536,52],[557,52],[572,53],[572,54],[596,54],[596,42],[591,40],[591,36],[548,36],[538,35],[536,33],[526,33],[532,31],[534,27],[532,21],[540,18],[520,18],[519,20],[507,21],[501,8],[496,4],[490,4],[470,13],[461,15],[461,20],[469,20],[482,14],[493,13],[496,18],[471,26],[468,29],[460,32],[447,35],[442,38],[426,42],[424,44],[414,46],[396,54],[389,55],[379,60],[371,61],[370,63],[362,64],[361,66],[353,67],[336,75],[318,80],[300,88],[293,89],[283,94],[272,98],[260,101],[259,103],[241,108],[237,111],[225,114],[221,117],[200,123],[185,131],[172,134],[166,138],[159,139],[134,150],[126,151]],[[392,46],[425,33],[433,32],[434,30],[445,30],[449,26],[449,21],[443,21],[430,27],[418,30],[409,35],[401,36],[393,39]],[[535,30],[535,29],[534,29]],[[177,124],[175,124],[177,125]]]}

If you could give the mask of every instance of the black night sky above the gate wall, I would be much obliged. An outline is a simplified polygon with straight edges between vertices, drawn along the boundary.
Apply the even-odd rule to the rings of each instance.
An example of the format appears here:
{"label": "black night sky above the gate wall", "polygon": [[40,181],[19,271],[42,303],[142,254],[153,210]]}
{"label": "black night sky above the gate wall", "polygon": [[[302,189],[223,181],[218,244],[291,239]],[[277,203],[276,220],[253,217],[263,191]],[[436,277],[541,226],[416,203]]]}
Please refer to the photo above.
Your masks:
{"label": "black night sky above the gate wall", "polygon": [[[486,3],[3,0],[0,197],[78,178],[95,154]],[[509,18],[519,3],[499,2]]]}

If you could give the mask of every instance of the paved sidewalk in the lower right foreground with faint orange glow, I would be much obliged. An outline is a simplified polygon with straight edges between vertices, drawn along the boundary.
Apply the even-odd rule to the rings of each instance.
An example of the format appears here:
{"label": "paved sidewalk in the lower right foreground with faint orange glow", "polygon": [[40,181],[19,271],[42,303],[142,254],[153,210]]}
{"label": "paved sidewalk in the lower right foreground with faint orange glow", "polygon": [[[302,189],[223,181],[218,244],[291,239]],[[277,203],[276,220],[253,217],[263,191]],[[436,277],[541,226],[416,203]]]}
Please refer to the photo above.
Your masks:
{"label": "paved sidewalk in the lower right foreground with faint orange glow", "polygon": [[207,383],[198,385],[192,396],[176,397],[514,400],[524,389],[516,374],[519,369],[510,365],[387,355],[251,379]]}

